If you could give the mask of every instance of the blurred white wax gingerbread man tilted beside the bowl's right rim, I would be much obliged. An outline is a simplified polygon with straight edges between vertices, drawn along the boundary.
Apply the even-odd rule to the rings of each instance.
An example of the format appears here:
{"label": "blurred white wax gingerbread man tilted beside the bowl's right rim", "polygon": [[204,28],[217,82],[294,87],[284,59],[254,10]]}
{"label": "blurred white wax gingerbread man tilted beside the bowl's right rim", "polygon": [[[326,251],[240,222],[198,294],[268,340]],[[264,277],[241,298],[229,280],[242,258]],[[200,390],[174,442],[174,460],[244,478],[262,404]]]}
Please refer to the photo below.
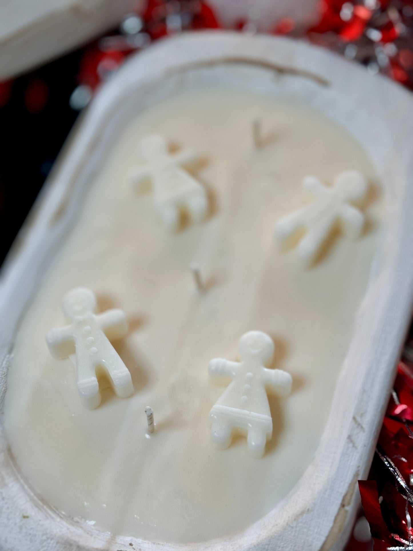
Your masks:
{"label": "blurred white wax gingerbread man tilted beside the bowl's right rim", "polygon": [[350,239],[361,235],[365,215],[356,206],[365,200],[368,186],[360,172],[346,170],[335,177],[333,187],[324,186],[315,176],[307,176],[303,187],[316,201],[281,218],[274,234],[284,245],[290,237],[305,231],[297,252],[302,265],[308,267],[334,228],[339,228]]}

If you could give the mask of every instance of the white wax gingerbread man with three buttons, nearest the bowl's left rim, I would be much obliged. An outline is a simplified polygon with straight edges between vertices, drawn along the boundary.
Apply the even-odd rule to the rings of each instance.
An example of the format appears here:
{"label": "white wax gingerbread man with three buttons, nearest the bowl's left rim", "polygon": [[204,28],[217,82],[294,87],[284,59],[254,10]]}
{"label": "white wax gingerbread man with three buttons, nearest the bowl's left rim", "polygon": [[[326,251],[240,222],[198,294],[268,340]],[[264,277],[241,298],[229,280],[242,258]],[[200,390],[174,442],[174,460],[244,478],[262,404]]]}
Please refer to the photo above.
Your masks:
{"label": "white wax gingerbread man with three buttons, nearest the bowl's left rim", "polygon": [[96,315],[95,295],[84,288],[69,291],[63,298],[62,307],[71,323],[48,332],[46,343],[53,358],[63,359],[75,354],[78,391],[83,405],[95,409],[100,404],[97,368],[106,371],[117,396],[132,396],[131,374],[110,343],[128,332],[124,312],[113,309]]}

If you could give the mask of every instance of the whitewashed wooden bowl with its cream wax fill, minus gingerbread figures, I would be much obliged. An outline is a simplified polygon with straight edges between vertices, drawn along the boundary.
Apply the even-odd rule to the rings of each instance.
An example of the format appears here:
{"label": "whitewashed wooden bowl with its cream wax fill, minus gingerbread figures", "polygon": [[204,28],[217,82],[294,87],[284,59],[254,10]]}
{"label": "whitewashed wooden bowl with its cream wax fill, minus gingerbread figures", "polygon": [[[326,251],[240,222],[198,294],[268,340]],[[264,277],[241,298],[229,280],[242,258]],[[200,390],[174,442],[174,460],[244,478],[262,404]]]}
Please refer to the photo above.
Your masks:
{"label": "whitewashed wooden bowl with its cream wax fill, minus gingerbread figures", "polygon": [[[358,85],[343,95],[349,79]],[[308,549],[340,545],[409,318],[411,148],[393,137],[410,136],[410,101],[327,52],[225,33],[165,41],[102,89],[4,273],[0,497],[13,545],[29,548],[28,534],[39,549],[289,549],[302,534]],[[138,144],[155,135],[170,155],[202,159],[188,174],[208,210],[184,208],[173,232],[154,208],[154,178],[148,193],[131,185],[147,162]],[[305,177],[331,186],[348,170],[368,186],[363,232],[333,235],[302,269],[295,247],[276,247],[274,225],[308,204]],[[114,344],[133,396],[101,388],[93,410],[73,364],[44,341],[80,286],[96,294],[97,316],[121,309],[129,323]],[[215,449],[208,420],[222,394],[208,364],[242,360],[249,331],[274,343],[260,367],[292,377],[290,397],[270,398],[261,458],[244,438]]]}

